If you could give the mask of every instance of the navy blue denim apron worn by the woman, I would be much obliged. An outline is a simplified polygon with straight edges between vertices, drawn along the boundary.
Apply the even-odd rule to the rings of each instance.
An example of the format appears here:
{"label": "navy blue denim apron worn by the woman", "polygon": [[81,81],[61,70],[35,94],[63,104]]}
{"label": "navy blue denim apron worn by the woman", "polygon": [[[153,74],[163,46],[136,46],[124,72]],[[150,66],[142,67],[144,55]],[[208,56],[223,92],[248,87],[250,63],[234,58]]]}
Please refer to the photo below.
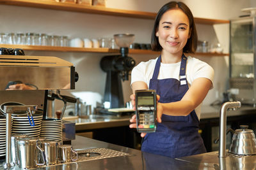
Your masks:
{"label": "navy blue denim apron worn by the woman", "polygon": [[[183,54],[180,62],[180,81],[175,78],[157,80],[161,64],[161,55],[157,59],[149,89],[155,89],[160,96],[159,103],[180,101],[188,91],[186,79],[187,57]],[[204,142],[198,133],[199,120],[195,110],[188,116],[162,115],[154,133],[148,133],[142,143],[141,151],[166,157],[185,157],[205,153]]]}

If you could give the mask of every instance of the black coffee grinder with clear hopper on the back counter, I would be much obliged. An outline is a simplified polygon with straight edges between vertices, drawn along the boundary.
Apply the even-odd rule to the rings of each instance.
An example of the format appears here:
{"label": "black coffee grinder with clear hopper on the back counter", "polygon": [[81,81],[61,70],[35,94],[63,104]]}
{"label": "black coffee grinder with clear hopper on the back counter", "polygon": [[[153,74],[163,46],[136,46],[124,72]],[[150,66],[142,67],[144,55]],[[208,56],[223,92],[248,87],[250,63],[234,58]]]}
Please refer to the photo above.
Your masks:
{"label": "black coffee grinder with clear hopper on the back counter", "polygon": [[[115,34],[115,43],[120,47],[120,55],[104,56],[100,67],[107,73],[104,94],[104,108],[124,108],[122,81],[129,80],[129,73],[136,62],[127,56],[134,34]],[[122,80],[122,81],[121,81]]]}

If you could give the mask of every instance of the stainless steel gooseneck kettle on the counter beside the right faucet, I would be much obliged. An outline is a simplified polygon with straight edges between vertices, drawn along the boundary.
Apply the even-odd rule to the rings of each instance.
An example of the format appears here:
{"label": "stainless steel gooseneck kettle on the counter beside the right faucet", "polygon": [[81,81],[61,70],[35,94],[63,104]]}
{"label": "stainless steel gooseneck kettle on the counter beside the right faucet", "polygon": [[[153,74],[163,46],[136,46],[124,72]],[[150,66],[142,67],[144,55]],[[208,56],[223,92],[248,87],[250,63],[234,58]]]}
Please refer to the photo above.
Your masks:
{"label": "stainless steel gooseneck kettle on the counter beside the right faucet", "polygon": [[236,155],[254,155],[256,154],[256,139],[255,134],[248,125],[240,125],[241,129],[236,131],[229,129],[232,132],[232,142],[229,151]]}

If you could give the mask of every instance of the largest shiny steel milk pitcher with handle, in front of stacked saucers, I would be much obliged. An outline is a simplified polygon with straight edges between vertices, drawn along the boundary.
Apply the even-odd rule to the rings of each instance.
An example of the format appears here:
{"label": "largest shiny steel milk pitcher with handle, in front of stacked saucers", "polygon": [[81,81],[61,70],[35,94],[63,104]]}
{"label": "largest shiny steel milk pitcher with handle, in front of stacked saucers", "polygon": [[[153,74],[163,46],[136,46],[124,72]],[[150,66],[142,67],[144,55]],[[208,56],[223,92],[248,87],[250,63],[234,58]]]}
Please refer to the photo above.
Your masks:
{"label": "largest shiny steel milk pitcher with handle, in front of stacked saucers", "polygon": [[42,160],[45,160],[44,150],[38,145],[38,138],[20,138],[17,139],[19,167],[20,168],[32,168],[42,166],[45,164],[38,163],[37,150],[40,150],[42,154]]}

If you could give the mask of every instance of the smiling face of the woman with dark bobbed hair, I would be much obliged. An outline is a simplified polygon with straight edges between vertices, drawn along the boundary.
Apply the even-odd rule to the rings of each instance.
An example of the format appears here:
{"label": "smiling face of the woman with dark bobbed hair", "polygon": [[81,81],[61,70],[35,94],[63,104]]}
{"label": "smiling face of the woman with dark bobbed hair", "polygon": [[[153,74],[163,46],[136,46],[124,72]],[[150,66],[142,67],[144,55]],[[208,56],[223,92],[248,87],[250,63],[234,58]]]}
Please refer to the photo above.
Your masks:
{"label": "smiling face of the woman with dark bobbed hair", "polygon": [[175,54],[183,52],[188,38],[190,38],[189,19],[180,9],[166,11],[156,32],[163,50]]}

